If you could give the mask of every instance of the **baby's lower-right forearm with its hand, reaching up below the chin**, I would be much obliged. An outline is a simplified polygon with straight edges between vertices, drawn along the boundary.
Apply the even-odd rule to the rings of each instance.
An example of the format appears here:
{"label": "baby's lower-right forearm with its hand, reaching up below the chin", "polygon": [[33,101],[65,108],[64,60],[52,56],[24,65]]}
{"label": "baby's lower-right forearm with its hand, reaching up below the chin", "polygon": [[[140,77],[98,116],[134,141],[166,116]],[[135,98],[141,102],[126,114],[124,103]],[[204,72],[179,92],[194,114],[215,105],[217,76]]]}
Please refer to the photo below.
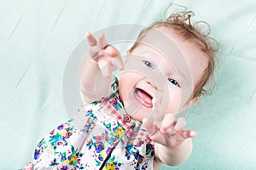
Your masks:
{"label": "baby's lower-right forearm with its hand, reaching up below the chin", "polygon": [[[153,114],[159,114],[157,112],[160,111],[159,107],[160,104],[156,102]],[[160,127],[150,118],[143,120],[144,127],[155,142],[156,160],[177,166],[189,158],[193,146],[191,138],[195,138],[196,133],[192,130],[184,130],[185,124],[186,121],[182,117],[176,121],[172,114],[166,115]]]}

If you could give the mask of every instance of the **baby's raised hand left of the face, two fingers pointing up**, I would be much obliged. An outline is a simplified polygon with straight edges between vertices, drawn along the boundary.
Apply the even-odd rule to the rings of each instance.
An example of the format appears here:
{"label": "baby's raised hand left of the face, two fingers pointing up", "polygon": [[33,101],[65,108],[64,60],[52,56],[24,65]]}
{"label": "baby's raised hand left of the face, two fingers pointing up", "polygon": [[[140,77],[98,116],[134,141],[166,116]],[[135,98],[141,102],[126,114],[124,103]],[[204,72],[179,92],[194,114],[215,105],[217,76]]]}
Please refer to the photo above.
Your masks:
{"label": "baby's raised hand left of the face, two fingers pointing up", "polygon": [[119,51],[113,48],[113,46],[108,45],[104,34],[100,34],[98,41],[90,32],[86,33],[86,37],[89,42],[90,57],[96,60],[103,77],[111,76],[111,72],[116,68],[123,70],[124,64]]}

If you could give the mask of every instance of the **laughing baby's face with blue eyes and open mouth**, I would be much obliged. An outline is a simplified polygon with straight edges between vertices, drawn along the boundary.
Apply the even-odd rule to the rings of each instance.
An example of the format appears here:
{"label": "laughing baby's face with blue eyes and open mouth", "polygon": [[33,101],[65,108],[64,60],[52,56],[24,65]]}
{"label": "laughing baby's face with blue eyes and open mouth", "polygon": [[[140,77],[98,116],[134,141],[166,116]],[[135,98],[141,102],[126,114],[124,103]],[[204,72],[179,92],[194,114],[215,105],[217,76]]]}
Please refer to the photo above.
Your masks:
{"label": "laughing baby's face with blue eyes and open mouth", "polygon": [[156,99],[163,115],[176,115],[197,100],[191,96],[206,68],[206,56],[195,43],[165,27],[148,31],[141,42],[127,54],[119,79],[125,111],[142,121],[151,115]]}

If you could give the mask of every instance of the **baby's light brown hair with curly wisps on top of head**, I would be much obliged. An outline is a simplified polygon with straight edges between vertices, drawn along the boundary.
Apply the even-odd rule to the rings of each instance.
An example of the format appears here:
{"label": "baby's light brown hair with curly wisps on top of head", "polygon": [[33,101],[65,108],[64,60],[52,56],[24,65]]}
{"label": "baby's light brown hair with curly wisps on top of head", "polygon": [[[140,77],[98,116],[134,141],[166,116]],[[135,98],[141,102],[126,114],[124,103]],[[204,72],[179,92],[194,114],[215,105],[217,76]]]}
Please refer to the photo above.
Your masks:
{"label": "baby's light brown hair with curly wisps on top of head", "polygon": [[[196,46],[200,48],[204,54],[206,54],[208,63],[200,81],[196,82],[195,84],[192,99],[201,96],[201,94],[207,93],[207,90],[204,87],[210,78],[213,79],[215,55],[218,51],[217,42],[209,37],[210,26],[207,24],[207,22],[204,21],[191,23],[190,18],[193,15],[194,13],[192,11],[181,11],[175,14],[171,14],[166,18],[166,20],[155,22],[153,25],[148,26],[140,32],[139,36],[137,37],[137,41],[134,42],[130,49],[130,51],[134,50],[134,48],[137,47],[137,45],[149,30],[160,26],[165,26],[166,28],[172,29],[172,31],[177,32],[180,37],[183,37],[184,40],[195,43]],[[207,32],[203,32],[201,30],[201,24],[205,24],[208,27]]]}

